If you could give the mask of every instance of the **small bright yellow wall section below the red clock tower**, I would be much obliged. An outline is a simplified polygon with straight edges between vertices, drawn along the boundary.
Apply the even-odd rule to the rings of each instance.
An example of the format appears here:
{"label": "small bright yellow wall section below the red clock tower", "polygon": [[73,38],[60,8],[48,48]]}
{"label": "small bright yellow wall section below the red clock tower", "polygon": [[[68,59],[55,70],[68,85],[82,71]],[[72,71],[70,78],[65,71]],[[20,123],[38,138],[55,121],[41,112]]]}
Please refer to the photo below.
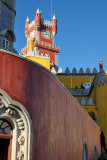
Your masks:
{"label": "small bright yellow wall section below the red clock tower", "polygon": [[33,57],[33,56],[29,56],[26,57],[34,62],[37,62],[39,64],[41,64],[42,66],[46,67],[47,69],[50,70],[50,59],[44,59],[44,58],[39,58],[39,57]]}

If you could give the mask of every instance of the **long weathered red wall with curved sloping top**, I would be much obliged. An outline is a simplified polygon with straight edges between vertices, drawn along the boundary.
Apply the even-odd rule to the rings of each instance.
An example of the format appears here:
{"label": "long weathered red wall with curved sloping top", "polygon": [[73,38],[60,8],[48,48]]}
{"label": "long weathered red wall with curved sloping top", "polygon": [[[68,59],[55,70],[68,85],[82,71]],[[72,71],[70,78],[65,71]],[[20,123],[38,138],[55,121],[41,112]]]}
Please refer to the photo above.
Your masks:
{"label": "long weathered red wall with curved sloping top", "polygon": [[26,107],[33,122],[33,160],[89,160],[100,155],[100,130],[46,69],[0,52],[0,88]]}

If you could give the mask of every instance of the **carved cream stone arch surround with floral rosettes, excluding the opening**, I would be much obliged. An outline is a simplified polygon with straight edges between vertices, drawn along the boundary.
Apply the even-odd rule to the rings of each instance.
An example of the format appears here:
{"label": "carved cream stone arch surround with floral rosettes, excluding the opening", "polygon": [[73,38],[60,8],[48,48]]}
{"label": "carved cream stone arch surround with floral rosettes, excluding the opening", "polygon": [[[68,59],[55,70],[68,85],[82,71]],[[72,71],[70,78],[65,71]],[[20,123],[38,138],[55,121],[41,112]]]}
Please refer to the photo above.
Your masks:
{"label": "carved cream stone arch surround with floral rosettes, excluding the opening", "polygon": [[11,160],[32,159],[33,128],[26,108],[0,89],[0,119],[12,126]]}

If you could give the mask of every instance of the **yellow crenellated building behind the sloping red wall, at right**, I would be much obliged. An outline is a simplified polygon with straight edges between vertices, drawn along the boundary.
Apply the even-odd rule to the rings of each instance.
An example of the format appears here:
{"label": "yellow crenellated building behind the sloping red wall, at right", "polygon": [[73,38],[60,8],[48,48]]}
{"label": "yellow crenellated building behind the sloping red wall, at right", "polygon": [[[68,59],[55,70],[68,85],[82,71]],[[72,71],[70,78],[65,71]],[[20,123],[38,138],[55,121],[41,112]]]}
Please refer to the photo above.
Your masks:
{"label": "yellow crenellated building behind the sloping red wall, at right", "polygon": [[84,73],[81,68],[77,73],[74,68],[70,73],[67,68],[57,78],[100,126],[107,148],[107,71],[97,72],[94,68],[91,73],[88,68]]}

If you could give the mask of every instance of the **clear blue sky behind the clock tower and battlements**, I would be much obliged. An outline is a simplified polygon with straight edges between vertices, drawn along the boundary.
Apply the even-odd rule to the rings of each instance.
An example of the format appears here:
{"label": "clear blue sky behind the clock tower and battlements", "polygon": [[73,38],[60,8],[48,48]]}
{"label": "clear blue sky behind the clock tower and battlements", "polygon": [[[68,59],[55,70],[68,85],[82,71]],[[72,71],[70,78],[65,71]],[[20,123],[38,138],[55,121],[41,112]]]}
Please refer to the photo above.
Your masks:
{"label": "clear blue sky behind the clock tower and battlements", "polygon": [[[59,67],[99,69],[102,60],[107,69],[107,0],[53,0],[58,21],[55,45],[60,46]],[[51,20],[51,0],[16,0],[14,47],[26,46],[25,20],[34,20],[37,8],[42,18]]]}

